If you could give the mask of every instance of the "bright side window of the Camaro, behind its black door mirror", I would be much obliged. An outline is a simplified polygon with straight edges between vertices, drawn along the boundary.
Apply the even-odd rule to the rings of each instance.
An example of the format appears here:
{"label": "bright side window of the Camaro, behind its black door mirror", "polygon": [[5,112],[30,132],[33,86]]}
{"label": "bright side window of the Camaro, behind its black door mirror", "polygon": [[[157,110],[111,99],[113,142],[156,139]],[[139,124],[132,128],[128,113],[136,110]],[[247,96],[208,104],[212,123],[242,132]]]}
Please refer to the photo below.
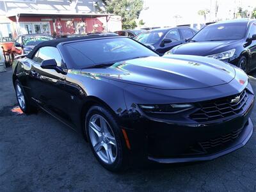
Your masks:
{"label": "bright side window of the Camaro, behind its black door mirror", "polygon": [[60,52],[56,47],[42,47],[38,51],[37,62],[54,59],[58,66],[61,67]]}

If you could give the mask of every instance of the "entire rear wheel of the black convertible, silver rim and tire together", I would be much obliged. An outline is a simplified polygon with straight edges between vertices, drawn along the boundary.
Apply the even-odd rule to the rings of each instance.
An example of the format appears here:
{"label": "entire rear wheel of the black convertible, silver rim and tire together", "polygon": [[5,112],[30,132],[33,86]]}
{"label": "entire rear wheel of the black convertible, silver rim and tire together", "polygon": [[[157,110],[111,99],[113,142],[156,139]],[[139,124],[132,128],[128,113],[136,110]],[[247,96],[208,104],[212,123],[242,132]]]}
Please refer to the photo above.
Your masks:
{"label": "entire rear wheel of the black convertible, silver rim and tire together", "polygon": [[15,81],[15,92],[19,107],[24,113],[33,113],[36,111],[36,108],[29,104],[24,93],[24,89],[22,88],[18,79]]}

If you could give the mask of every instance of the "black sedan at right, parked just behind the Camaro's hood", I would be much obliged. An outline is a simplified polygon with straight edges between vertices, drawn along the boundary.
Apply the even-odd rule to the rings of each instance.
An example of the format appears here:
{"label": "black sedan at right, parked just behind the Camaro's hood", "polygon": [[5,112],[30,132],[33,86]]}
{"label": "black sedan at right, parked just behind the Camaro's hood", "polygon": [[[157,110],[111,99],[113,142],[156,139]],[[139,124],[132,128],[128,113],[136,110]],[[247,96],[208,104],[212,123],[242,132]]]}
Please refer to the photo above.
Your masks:
{"label": "black sedan at right, parked just behind the Camaro's hood", "polygon": [[178,45],[167,54],[207,56],[250,72],[256,68],[256,20],[238,19],[210,24],[187,44]]}

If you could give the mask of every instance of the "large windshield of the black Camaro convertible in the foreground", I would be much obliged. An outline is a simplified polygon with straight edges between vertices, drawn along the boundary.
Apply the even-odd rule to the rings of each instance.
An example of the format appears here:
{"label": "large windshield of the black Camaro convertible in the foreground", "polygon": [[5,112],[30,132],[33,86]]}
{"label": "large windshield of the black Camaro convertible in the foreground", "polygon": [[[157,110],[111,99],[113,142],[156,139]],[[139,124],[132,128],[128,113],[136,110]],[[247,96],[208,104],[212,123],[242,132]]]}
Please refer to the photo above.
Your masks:
{"label": "large windshield of the black Camaro convertible in the foreground", "polygon": [[74,68],[90,68],[95,65],[108,65],[118,61],[147,56],[158,56],[130,38],[104,38],[83,42],[70,42],[63,45],[67,61]]}

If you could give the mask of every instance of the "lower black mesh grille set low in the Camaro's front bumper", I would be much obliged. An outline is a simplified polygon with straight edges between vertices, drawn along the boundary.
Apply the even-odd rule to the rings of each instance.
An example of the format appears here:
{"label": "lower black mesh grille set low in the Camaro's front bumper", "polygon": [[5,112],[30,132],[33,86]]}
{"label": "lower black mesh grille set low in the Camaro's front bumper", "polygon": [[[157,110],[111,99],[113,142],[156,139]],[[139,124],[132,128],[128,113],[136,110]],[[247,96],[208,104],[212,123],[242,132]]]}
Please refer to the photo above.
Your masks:
{"label": "lower black mesh grille set low in the Camaro's front bumper", "polygon": [[225,145],[226,143],[230,143],[236,138],[238,138],[239,134],[243,131],[243,127],[237,129],[237,131],[233,131],[230,134],[223,134],[220,138],[214,138],[208,141],[200,142],[200,146],[204,148],[204,150],[209,150],[214,147],[220,147],[221,145]]}

